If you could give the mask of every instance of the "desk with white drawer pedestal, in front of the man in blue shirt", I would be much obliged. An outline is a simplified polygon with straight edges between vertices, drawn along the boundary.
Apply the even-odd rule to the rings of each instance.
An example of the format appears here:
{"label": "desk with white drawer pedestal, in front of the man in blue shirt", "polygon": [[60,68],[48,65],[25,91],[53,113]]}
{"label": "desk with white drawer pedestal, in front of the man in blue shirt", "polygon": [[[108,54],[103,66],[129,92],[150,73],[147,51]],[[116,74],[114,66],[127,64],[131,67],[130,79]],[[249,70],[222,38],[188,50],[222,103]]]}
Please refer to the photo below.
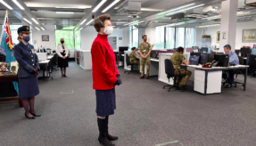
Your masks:
{"label": "desk with white drawer pedestal, in front of the man in blue shirt", "polygon": [[[245,75],[249,66],[237,65],[230,67],[202,68],[201,65],[189,65],[194,68],[194,91],[203,93],[221,93],[222,71],[231,69],[245,69]],[[244,91],[246,90],[247,76],[244,76]]]}

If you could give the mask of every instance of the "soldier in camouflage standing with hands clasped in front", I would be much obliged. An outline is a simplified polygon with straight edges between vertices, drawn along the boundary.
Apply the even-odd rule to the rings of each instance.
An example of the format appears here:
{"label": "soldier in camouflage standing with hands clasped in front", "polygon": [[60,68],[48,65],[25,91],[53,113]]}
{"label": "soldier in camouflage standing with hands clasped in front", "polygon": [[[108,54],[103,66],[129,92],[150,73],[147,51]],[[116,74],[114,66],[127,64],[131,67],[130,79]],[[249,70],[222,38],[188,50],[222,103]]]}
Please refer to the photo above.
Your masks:
{"label": "soldier in camouflage standing with hands clasped in front", "polygon": [[147,36],[143,37],[144,42],[139,45],[139,53],[140,53],[140,64],[142,68],[141,79],[145,78],[145,67],[146,67],[146,78],[149,79],[149,66],[150,66],[150,53],[151,53],[151,45],[147,43]]}

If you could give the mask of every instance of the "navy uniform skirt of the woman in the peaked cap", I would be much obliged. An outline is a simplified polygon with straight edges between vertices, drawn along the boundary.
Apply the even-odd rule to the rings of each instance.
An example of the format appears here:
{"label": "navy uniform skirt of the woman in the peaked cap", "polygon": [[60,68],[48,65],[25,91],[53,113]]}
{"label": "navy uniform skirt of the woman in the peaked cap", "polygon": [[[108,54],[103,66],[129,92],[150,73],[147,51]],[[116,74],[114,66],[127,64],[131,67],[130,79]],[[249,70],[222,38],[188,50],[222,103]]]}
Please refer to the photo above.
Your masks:
{"label": "navy uniform skirt of the woman in the peaked cap", "polygon": [[19,78],[19,98],[28,99],[39,94],[37,76]]}

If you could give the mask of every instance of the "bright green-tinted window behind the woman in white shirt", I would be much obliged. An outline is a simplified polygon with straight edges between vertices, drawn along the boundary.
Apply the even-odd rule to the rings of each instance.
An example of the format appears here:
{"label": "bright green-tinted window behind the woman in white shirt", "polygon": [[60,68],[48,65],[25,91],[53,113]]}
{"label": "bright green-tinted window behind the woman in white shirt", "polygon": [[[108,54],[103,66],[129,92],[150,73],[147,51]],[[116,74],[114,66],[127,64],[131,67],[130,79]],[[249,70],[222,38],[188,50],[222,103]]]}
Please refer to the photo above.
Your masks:
{"label": "bright green-tinted window behind the woman in white shirt", "polygon": [[[56,26],[55,26],[56,27]],[[64,38],[65,40],[65,45],[69,49],[75,49],[75,33],[73,31],[73,28],[75,27],[68,27],[68,28],[63,28],[62,30],[55,30],[55,43],[56,46],[60,45],[61,38]]]}

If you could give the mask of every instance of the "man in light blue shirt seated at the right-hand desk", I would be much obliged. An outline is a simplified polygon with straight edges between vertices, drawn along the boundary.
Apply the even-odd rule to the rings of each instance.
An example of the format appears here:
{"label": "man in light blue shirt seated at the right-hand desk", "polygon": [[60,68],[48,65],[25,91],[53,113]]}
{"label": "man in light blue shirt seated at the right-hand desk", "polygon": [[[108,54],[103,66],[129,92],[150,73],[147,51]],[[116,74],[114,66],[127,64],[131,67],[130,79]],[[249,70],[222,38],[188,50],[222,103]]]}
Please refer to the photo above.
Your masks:
{"label": "man in light blue shirt seated at the right-hand desk", "polygon": [[[236,53],[231,51],[230,45],[224,46],[224,52],[229,54],[229,64],[230,65],[239,65],[239,59],[238,59]],[[228,70],[229,77],[228,77],[227,85],[225,85],[226,88],[232,87],[232,84],[234,83],[235,72],[236,72],[236,69]]]}

